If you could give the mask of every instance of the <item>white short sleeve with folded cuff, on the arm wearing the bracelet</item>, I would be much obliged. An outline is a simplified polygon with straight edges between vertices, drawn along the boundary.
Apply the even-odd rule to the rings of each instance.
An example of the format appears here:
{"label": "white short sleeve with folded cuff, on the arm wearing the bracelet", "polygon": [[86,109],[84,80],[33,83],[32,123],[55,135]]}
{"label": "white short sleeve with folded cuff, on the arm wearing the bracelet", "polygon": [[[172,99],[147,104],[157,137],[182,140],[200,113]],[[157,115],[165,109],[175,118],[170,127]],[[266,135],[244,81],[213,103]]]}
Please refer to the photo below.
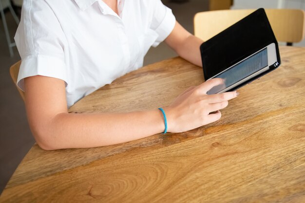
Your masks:
{"label": "white short sleeve with folded cuff, on the arm wearing the bracelet", "polygon": [[24,0],[21,14],[14,37],[21,56],[17,86],[24,91],[23,79],[34,75],[55,77],[67,85],[67,41],[53,10],[43,0]]}

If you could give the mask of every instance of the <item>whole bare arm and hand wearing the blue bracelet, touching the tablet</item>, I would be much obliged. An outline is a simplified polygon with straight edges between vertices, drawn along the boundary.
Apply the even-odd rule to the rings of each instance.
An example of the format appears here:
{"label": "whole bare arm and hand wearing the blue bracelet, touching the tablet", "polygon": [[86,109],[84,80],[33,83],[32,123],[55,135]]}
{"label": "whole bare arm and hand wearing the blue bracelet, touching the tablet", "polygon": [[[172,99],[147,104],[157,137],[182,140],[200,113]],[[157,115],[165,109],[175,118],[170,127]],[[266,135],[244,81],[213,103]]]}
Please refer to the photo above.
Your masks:
{"label": "whole bare arm and hand wearing the blue bracelet, touching the tablet", "polygon": [[[168,131],[181,132],[214,122],[236,92],[207,95],[222,83],[212,79],[191,87],[165,107]],[[147,137],[164,130],[161,111],[130,113],[68,113],[64,81],[46,77],[25,78],[25,105],[29,125],[38,145],[46,150],[91,148]]]}

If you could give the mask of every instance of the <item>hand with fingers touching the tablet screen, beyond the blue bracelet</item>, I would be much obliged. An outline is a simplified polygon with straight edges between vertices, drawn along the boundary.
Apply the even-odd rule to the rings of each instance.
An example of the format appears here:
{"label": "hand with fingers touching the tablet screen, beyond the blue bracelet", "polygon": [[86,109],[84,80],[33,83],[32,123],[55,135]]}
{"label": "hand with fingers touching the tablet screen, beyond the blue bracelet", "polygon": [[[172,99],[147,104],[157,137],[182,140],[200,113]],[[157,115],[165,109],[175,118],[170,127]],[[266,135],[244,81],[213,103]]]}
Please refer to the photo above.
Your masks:
{"label": "hand with fingers touching the tablet screen, beyond the blue bracelet", "polygon": [[[163,108],[169,132],[184,132],[217,121],[221,117],[219,110],[228,106],[228,100],[238,93],[225,92],[208,95],[214,86],[223,83],[221,78],[214,78],[199,86],[192,86],[181,93],[169,107]],[[215,113],[211,113],[214,112]]]}

